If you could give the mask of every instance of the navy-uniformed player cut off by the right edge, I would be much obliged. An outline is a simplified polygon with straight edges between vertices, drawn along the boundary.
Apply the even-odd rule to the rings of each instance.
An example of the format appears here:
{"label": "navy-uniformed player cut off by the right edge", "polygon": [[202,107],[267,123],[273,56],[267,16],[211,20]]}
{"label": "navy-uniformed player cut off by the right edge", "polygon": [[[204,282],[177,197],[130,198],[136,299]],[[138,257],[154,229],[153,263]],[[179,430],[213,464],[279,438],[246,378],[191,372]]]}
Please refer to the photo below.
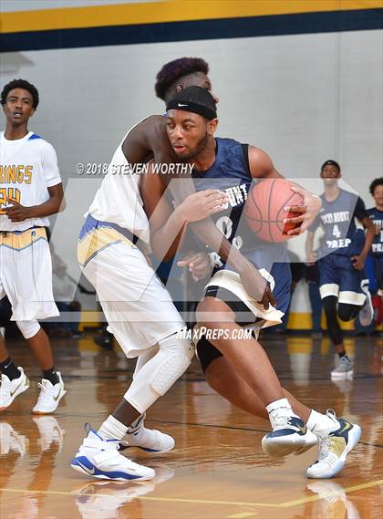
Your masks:
{"label": "navy-uniformed player cut off by the right edge", "polygon": [[375,207],[367,209],[368,216],[375,228],[371,254],[374,259],[374,275],[378,283],[378,294],[383,296],[383,177],[371,182],[369,192],[375,201]]}

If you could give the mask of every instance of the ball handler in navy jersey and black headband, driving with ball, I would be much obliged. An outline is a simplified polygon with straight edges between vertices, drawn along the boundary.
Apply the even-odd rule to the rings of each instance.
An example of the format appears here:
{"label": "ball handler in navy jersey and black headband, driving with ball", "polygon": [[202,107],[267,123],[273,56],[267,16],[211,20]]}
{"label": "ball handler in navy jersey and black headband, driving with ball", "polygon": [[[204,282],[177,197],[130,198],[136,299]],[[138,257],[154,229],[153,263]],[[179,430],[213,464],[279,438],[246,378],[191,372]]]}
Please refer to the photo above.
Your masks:
{"label": "ball handler in navy jersey and black headband, driving with ball", "polygon": [[[256,241],[241,218],[252,180],[280,175],[264,151],[231,139],[214,139],[218,123],[215,103],[203,88],[185,88],[167,102],[167,109],[172,148],[179,160],[193,164],[197,191],[209,185],[219,186],[228,194],[227,211],[213,215],[212,219],[218,228],[226,231],[227,239],[241,248],[246,259],[260,269],[276,296],[275,306],[265,309],[246,292],[240,276],[224,260],[214,269],[197,309],[199,324],[208,331],[219,332],[212,334],[210,340],[202,337],[197,345],[206,379],[238,407],[270,419],[273,431],[264,436],[265,452],[281,457],[290,452],[304,452],[316,443],[316,436],[323,440],[320,461],[306,473],[313,478],[332,477],[341,470],[347,452],[356,445],[360,428],[347,420],[336,419],[331,412],[323,415],[310,410],[295,400],[281,387],[258,341],[254,337],[237,338],[242,325],[259,328],[279,323],[288,305],[291,276],[285,244]],[[151,244],[157,254],[171,257],[187,236],[179,233],[178,208],[173,211],[171,203],[162,196],[165,185],[161,178],[151,176],[143,179],[141,185],[150,215]],[[185,228],[188,223],[182,225]],[[169,250],[164,251],[164,247]],[[220,381],[218,387],[212,383],[214,379]],[[330,445],[340,446],[335,456],[326,451]]]}

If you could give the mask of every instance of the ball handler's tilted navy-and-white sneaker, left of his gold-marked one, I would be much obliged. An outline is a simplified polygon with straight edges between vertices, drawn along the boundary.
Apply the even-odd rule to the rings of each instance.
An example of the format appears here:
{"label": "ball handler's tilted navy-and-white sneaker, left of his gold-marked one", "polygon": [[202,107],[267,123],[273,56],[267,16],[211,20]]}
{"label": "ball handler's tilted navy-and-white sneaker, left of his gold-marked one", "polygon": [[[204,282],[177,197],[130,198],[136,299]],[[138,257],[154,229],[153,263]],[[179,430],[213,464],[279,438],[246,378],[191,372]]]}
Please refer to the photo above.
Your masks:
{"label": "ball handler's tilted navy-and-white sneaker, left of his gold-marked one", "polygon": [[262,439],[262,448],[273,458],[283,458],[288,454],[302,454],[317,443],[316,435],[297,416],[288,416],[285,410],[276,409],[270,413],[273,431]]}

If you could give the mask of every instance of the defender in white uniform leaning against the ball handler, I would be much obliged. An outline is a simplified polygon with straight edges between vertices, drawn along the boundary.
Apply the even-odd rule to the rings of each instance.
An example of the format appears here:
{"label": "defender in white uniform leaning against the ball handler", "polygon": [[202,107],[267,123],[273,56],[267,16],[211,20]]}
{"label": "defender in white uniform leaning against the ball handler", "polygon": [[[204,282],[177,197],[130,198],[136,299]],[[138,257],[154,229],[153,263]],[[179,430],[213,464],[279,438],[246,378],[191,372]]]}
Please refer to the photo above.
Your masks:
{"label": "defender in white uniform leaning against the ball handler", "polygon": [[[211,89],[207,67],[199,58],[175,60],[162,68],[161,71],[166,68],[166,74],[161,78],[159,73],[157,86],[166,96],[191,85]],[[138,357],[133,381],[118,408],[98,431],[88,431],[71,464],[78,472],[98,478],[153,477],[151,469],[130,462],[119,454],[118,448],[128,435],[128,446],[148,452],[171,450],[174,445],[171,437],[146,429],[143,417],[152,403],[181,376],[193,355],[190,343],[176,338],[175,334],[185,325],[141,252],[150,250],[149,222],[140,197],[140,175],[129,173],[129,164],[146,162],[152,156],[161,163],[177,162],[162,116],[144,119],[122,140],[86,214],[78,245],[79,263],[96,288],[109,330],[128,358]],[[171,175],[167,175],[168,179]],[[265,307],[273,304],[274,297],[254,265],[206,220],[221,210],[226,200],[223,193],[217,190],[196,193],[191,189],[192,180],[187,180],[175,182],[182,186],[180,192],[173,193],[176,200],[183,200],[178,207],[181,227],[183,223],[191,223],[205,243],[235,265],[243,284],[257,301]],[[320,207],[320,202],[318,206],[306,194],[305,206],[297,208],[297,212],[303,213],[304,224],[313,221]],[[140,244],[141,250],[136,244]]]}

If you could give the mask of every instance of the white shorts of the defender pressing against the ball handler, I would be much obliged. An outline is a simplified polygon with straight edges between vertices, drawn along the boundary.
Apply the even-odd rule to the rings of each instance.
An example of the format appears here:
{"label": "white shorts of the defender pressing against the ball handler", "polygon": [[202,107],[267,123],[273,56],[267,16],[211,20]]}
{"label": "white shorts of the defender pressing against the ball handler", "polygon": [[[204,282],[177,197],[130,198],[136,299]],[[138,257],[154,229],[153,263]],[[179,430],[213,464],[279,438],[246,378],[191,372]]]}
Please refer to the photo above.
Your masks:
{"label": "white shorts of the defender pressing against the ball handler", "polygon": [[[105,246],[108,231],[98,229],[96,241],[104,246],[78,246],[78,261],[95,287],[109,331],[128,358],[139,356],[164,337],[185,327],[171,296],[148,265],[140,249],[120,236]],[[87,260],[88,256],[88,260]]]}

